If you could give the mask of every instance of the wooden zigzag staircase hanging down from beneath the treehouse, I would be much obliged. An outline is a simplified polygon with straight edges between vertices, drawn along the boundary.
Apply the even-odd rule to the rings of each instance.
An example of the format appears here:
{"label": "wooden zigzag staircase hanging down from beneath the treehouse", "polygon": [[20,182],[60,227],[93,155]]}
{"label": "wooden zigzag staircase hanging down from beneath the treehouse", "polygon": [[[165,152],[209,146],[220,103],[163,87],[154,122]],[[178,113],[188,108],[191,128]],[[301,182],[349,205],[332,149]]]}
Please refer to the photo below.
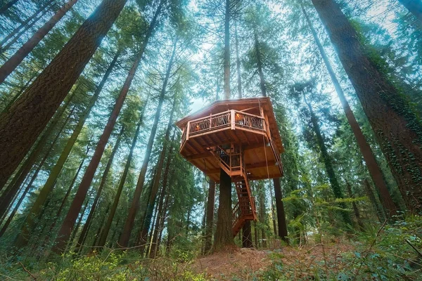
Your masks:
{"label": "wooden zigzag staircase hanging down from beneath the treehouse", "polygon": [[230,148],[215,146],[209,149],[219,162],[219,166],[231,176],[231,181],[236,185],[238,203],[232,210],[233,235],[236,236],[246,221],[256,221],[257,212],[255,198],[252,197],[248,174],[243,161],[241,146],[231,145]]}

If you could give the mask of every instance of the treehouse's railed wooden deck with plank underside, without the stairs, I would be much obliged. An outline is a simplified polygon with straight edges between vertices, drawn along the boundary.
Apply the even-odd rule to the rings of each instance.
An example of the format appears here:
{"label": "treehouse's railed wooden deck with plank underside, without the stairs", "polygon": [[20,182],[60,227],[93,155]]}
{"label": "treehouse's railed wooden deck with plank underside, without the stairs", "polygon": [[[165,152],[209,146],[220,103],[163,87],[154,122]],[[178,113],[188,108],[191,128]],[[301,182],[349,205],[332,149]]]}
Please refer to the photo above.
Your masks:
{"label": "treehouse's railed wooden deck with plank underside, without the stairs", "polygon": [[217,145],[238,143],[245,151],[250,180],[283,175],[280,152],[264,117],[238,110],[188,121],[183,129],[180,153],[207,176],[219,182],[219,163],[212,156]]}

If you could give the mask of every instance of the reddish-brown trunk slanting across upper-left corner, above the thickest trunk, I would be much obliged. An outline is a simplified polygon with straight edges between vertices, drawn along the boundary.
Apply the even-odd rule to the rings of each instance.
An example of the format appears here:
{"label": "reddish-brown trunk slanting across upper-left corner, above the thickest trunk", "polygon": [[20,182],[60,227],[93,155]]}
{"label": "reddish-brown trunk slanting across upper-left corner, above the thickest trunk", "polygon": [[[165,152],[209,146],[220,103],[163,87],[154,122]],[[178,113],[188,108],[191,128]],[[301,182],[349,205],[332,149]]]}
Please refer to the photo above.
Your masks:
{"label": "reddish-brown trunk slanting across upper-left corner, above the thickest trunk", "polygon": [[15,70],[18,65],[20,65],[20,63],[22,63],[23,59],[26,58],[29,53],[31,53],[35,46],[37,46],[39,42],[46,36],[46,34],[48,34],[50,30],[53,29],[56,23],[61,20],[61,18],[63,18],[63,16],[70,10],[70,8],[76,4],[76,2],[77,0],[69,0],[67,3],[65,3],[64,6],[60,8],[60,10],[58,10],[48,22],[40,27],[39,30],[11,56],[11,58],[6,60],[6,62],[1,65],[0,84],[6,80],[8,75],[11,74],[13,70]]}

